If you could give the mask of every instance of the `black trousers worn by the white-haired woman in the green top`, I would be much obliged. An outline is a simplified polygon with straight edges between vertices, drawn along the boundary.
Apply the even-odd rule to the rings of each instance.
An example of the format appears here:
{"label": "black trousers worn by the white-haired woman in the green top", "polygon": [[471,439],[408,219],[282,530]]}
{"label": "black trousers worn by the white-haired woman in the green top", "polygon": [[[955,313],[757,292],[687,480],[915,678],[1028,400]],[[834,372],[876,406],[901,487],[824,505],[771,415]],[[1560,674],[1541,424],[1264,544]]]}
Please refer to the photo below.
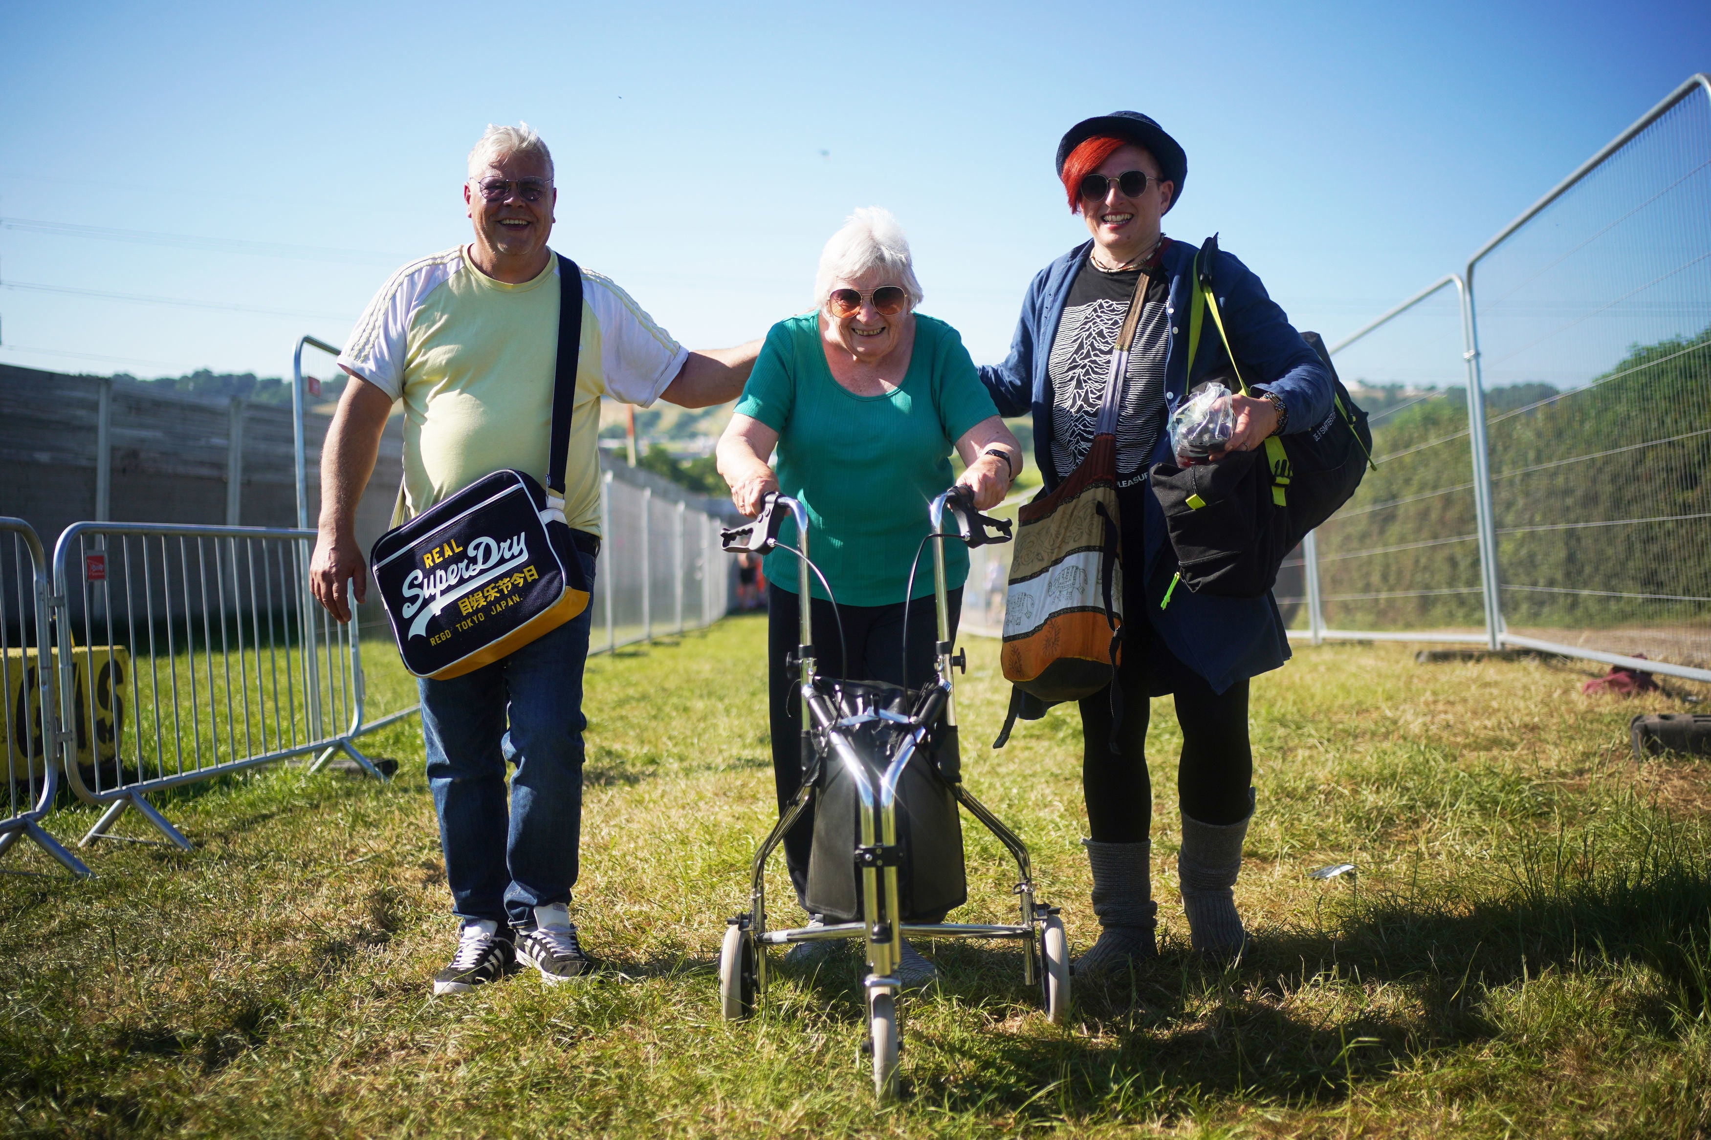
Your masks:
{"label": "black trousers worn by the white-haired woman in the green top", "polygon": [[[898,590],[902,593],[902,590]],[[814,624],[814,658],[820,673],[844,680],[883,680],[893,685],[919,689],[932,677],[932,646],[938,641],[938,615],[932,596],[909,603],[909,668],[903,668],[903,603],[891,605],[840,605],[844,638],[832,603],[821,598],[809,602]],[[951,639],[956,639],[956,620],[962,617],[962,590],[950,591]],[[801,636],[801,600],[775,583],[767,583],[767,692],[772,723],[772,774],[779,788],[779,814],[796,800],[802,786],[802,702],[794,694],[797,672],[785,663]],[[844,651],[849,651],[849,673],[844,672]],[[808,899],[808,853],[814,839],[814,810],[808,808],[784,836],[784,861],[790,868],[796,901]]]}

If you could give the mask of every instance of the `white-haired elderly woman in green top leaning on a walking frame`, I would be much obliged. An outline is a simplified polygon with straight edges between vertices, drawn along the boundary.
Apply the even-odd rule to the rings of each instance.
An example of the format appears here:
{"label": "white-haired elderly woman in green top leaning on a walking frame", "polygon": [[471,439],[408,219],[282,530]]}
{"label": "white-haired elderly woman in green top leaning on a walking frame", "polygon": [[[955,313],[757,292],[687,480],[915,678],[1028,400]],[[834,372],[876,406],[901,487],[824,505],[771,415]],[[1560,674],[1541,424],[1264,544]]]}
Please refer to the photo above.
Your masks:
{"label": "white-haired elderly woman in green top leaning on a walking frame", "polygon": [[[847,658],[850,679],[922,685],[938,639],[932,574],[915,576],[907,603],[903,593],[929,532],[927,502],[951,485],[955,448],[965,465],[956,482],[974,491],[980,509],[996,506],[1021,470],[1021,446],[998,417],[956,330],[915,311],[921,282],[909,241],[886,210],[856,210],[832,236],[814,294],[813,313],[779,321],[767,335],[719,441],[719,473],[737,509],[751,518],[773,491],[808,508],[814,564],[837,596],[847,639],[835,643],[840,622],[816,581],[809,605],[814,629],[826,631],[816,634],[821,667],[830,673]],[[777,472],[767,463],[775,446]],[[792,542],[792,533],[787,521],[780,538]],[[767,557],[772,764],[780,812],[801,784],[801,713],[789,699],[792,672],[785,663],[802,605],[792,585],[794,564],[787,562],[792,557]],[[955,629],[968,554],[946,544],[944,561]],[[784,839],[804,911],[811,839],[811,815]],[[799,943],[787,961],[813,959],[830,945]],[[934,974],[907,942],[900,973],[914,984]]]}

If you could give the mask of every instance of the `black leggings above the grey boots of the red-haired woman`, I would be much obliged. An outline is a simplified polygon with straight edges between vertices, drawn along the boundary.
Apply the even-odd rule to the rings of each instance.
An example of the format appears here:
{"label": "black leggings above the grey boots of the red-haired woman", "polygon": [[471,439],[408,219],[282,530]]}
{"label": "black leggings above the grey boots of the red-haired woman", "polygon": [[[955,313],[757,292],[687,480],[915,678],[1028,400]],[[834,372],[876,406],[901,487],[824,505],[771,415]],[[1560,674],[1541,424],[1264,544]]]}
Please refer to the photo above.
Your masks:
{"label": "black leggings above the grey boots of the red-haired woman", "polygon": [[[1182,726],[1177,761],[1182,812],[1203,824],[1239,822],[1249,812],[1247,788],[1254,779],[1247,680],[1215,694],[1199,673],[1175,660],[1145,617],[1129,624],[1129,636],[1134,643],[1124,646],[1117,668],[1122,725],[1116,754],[1110,750],[1110,689],[1081,701],[1081,795],[1092,837],[1141,843],[1150,834],[1153,784],[1146,776],[1146,721],[1148,694],[1158,689],[1174,689],[1177,725]],[[1169,670],[1157,685],[1152,684],[1155,670]]]}

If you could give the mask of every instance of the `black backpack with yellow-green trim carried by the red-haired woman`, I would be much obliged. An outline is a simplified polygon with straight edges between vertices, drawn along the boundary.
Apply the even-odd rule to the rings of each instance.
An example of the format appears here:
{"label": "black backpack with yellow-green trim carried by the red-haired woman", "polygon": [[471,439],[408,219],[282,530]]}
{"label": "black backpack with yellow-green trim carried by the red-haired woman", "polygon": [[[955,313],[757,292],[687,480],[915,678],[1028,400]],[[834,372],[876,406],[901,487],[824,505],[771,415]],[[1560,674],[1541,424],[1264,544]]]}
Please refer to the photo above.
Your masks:
{"label": "black backpack with yellow-green trim carried by the red-haired woman", "polygon": [[[1211,263],[1217,256],[1218,236],[1213,234],[1194,256],[1186,374],[1194,369],[1201,314],[1210,311],[1230,357],[1235,386],[1242,395],[1252,395],[1213,296]],[[1319,333],[1302,333],[1302,340],[1331,373],[1331,412],[1323,422],[1312,431],[1271,436],[1263,448],[1237,451],[1217,463],[1152,467],[1150,484],[1163,508],[1165,530],[1177,555],[1165,605],[1179,581],[1194,593],[1263,596],[1276,583],[1278,566],[1288,552],[1348,502],[1367,473],[1372,463],[1367,414],[1338,379]]]}

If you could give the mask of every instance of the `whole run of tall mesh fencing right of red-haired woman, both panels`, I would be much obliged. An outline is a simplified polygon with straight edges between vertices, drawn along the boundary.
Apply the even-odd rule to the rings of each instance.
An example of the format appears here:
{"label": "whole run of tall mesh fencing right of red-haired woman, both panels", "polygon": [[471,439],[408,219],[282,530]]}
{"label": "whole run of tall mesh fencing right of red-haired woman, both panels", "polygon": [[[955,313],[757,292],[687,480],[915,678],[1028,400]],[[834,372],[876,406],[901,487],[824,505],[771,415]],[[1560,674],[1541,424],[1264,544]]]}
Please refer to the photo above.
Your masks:
{"label": "whole run of tall mesh fencing right of red-haired woman, both panels", "polygon": [[1304,544],[1311,612],[1292,636],[1530,648],[1711,682],[1706,219],[1701,73],[1463,273],[1333,350],[1345,381],[1422,383],[1432,403],[1374,417],[1379,468]]}

